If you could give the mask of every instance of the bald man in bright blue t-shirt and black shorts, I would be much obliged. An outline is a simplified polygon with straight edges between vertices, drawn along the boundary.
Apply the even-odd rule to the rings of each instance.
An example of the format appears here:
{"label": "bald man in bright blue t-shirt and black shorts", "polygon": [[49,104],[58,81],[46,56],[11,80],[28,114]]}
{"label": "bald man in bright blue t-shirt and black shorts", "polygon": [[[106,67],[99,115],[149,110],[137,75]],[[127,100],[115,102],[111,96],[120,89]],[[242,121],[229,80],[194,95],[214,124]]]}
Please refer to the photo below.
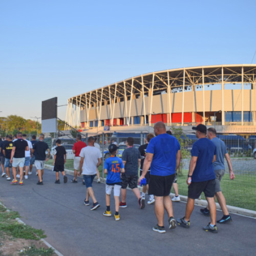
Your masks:
{"label": "bald man in bright blue t-shirt and black shorts", "polygon": [[150,168],[150,184],[148,193],[155,197],[155,214],[157,224],[154,231],[165,233],[163,225],[164,209],[168,214],[169,229],[176,228],[176,221],[173,214],[172,200],[169,194],[172,188],[175,172],[180,166],[180,144],[178,140],[166,134],[166,127],[163,122],[157,122],[154,126],[156,137],[150,140],[146,148],[142,175],[139,180],[145,178]]}

